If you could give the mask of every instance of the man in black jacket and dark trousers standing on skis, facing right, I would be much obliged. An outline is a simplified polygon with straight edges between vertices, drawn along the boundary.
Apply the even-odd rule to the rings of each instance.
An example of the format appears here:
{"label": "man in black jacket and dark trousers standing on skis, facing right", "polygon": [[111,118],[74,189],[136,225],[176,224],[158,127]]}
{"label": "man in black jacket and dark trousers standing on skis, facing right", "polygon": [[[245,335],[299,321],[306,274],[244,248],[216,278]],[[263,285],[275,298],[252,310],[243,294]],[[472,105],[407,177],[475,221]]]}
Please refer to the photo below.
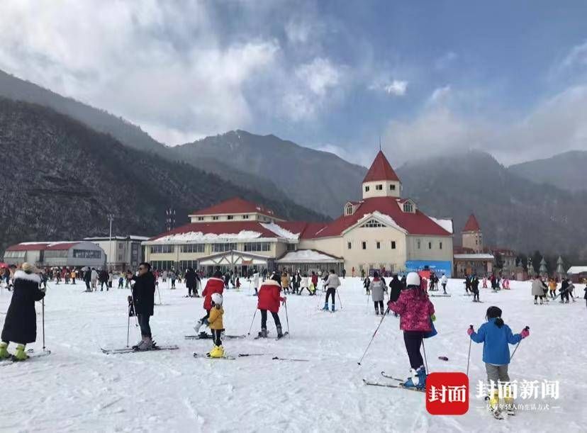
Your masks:
{"label": "man in black jacket and dark trousers standing on skis, facing right", "polygon": [[151,272],[151,265],[142,262],[139,265],[138,276],[128,271],[126,278],[135,281],[131,288],[135,313],[140,326],[141,341],[133,346],[135,350],[151,350],[155,344],[152,340],[150,317],[153,315],[155,305],[155,276]]}

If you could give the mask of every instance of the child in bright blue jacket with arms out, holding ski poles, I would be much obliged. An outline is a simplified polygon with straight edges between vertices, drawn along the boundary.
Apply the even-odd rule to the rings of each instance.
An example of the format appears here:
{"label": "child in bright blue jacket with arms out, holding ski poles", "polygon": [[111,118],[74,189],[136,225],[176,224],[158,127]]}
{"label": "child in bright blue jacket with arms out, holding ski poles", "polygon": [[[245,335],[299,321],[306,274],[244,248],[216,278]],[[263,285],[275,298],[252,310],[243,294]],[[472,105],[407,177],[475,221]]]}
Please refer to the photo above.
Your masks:
{"label": "child in bright blue jacket with arms out, holding ski poles", "polygon": [[486,313],[486,323],[475,332],[472,327],[466,330],[469,337],[476,342],[483,342],[483,362],[487,372],[487,381],[491,387],[489,395],[489,407],[496,417],[501,417],[499,408],[499,390],[495,388],[498,383],[505,384],[503,396],[505,405],[513,410],[513,396],[510,390],[510,376],[508,375],[508,364],[510,364],[509,344],[518,344],[522,339],[530,335],[530,331],[523,329],[520,334],[513,334],[508,325],[503,323],[501,309],[489,307]]}

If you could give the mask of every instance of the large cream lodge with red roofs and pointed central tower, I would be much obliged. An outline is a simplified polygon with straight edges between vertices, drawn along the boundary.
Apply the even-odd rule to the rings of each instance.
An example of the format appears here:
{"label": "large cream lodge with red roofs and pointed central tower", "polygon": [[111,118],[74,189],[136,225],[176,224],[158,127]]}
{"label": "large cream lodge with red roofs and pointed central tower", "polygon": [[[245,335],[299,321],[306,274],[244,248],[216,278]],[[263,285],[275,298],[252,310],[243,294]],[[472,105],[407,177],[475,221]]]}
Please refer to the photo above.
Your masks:
{"label": "large cream lodge with red roofs and pointed central tower", "polygon": [[362,200],[346,203],[331,223],[286,221],[233,198],[191,213],[191,223],[143,242],[145,259],[155,269],[192,266],[206,274],[334,268],[349,274],[436,269],[450,275],[452,220],[430,218],[402,198],[401,190],[380,151],[362,183]]}

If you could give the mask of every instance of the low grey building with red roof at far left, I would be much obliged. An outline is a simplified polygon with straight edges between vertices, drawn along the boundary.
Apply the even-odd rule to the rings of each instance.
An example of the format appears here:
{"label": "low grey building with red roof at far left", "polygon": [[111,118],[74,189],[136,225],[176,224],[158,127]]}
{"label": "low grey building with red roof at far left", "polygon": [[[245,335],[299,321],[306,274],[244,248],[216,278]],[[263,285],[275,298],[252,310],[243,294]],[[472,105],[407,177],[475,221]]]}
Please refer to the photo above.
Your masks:
{"label": "low grey building with red roof at far left", "polygon": [[21,242],[6,248],[4,262],[17,266],[28,262],[38,267],[101,268],[106,265],[106,254],[101,247],[87,241]]}

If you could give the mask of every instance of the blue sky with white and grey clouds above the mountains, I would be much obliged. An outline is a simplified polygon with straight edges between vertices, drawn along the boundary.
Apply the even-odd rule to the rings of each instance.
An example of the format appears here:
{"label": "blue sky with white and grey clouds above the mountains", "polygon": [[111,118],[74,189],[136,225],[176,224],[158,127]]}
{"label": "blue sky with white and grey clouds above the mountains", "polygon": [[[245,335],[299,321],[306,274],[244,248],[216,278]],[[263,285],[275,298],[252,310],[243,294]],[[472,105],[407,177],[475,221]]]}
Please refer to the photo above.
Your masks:
{"label": "blue sky with white and grey clouds above the mountains", "polygon": [[369,164],[587,150],[585,1],[0,2],[0,69],[168,145],[237,128]]}

